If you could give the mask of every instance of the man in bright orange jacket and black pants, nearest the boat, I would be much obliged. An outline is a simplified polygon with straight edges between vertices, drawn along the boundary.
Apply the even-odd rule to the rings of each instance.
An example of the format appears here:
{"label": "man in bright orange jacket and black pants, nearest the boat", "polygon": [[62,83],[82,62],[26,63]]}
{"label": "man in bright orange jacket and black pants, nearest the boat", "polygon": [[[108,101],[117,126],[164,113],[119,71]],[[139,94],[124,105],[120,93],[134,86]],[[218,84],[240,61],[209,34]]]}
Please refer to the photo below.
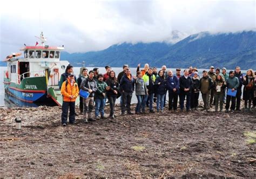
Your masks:
{"label": "man in bright orange jacket and black pants, nearest the boat", "polygon": [[69,109],[69,123],[75,124],[75,103],[79,89],[74,77],[75,75],[70,73],[68,79],[63,82],[62,88],[60,89],[60,93],[63,95],[62,126],[66,126]]}

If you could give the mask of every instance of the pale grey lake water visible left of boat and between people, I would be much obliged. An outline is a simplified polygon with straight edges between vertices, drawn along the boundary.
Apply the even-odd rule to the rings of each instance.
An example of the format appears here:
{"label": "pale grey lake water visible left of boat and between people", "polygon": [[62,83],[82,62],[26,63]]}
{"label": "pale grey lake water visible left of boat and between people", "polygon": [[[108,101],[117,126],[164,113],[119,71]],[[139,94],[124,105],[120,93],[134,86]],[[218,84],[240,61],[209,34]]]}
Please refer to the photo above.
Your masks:
{"label": "pale grey lake water visible left of boat and between people", "polygon": [[[95,68],[95,67],[87,67],[87,69],[89,71],[92,70],[93,68]],[[98,67],[98,68],[99,68],[100,73],[104,74],[106,72],[104,67]],[[137,68],[131,68],[132,75],[136,75],[136,69]],[[141,68],[141,69],[143,69],[143,68]],[[12,98],[11,100],[12,101],[16,100],[16,102],[15,102],[16,104],[13,104],[12,102],[10,102],[8,100],[11,97],[8,97],[8,96],[5,95],[5,93],[4,93],[4,84],[3,84],[3,75],[4,75],[3,71],[4,70],[6,70],[6,67],[0,66],[0,71],[2,73],[2,77],[0,78],[0,107],[3,107],[3,106],[8,106],[8,107],[24,106],[24,104],[20,104],[19,101],[14,99],[14,98]],[[116,75],[118,75],[119,72],[123,71],[123,68],[122,67],[113,67],[112,70],[114,72],[116,72]],[[158,68],[158,70],[160,70],[160,68]],[[174,68],[170,68],[170,69],[167,68],[167,70],[172,70],[174,73],[176,72],[176,69],[174,69]],[[183,70],[184,69],[181,69],[181,72]],[[198,69],[198,73],[199,73],[200,76],[202,76],[202,72],[204,70],[205,69]],[[227,71],[229,72],[230,70],[227,70]],[[76,74],[77,77],[79,75],[79,72],[80,72],[80,68],[79,67],[74,67],[74,73]],[[242,73],[245,74],[246,71],[243,70]],[[5,99],[7,99],[7,100],[5,100]],[[168,97],[167,97],[167,99],[168,99]],[[201,95],[200,95],[199,99],[201,99]],[[120,99],[117,100],[117,103],[119,103],[119,100]],[[137,98],[136,98],[135,93],[132,95],[132,103],[137,103]],[[26,106],[27,107],[36,107],[36,105],[33,105],[33,104],[25,104],[25,107]]]}

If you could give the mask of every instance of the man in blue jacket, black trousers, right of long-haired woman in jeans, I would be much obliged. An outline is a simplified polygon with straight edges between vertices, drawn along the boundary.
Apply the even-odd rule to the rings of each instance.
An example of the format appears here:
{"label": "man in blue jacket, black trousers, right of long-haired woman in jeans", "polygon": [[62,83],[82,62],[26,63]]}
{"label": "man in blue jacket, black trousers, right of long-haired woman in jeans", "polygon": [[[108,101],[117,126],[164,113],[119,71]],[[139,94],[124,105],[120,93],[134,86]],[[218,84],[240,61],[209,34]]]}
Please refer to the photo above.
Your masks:
{"label": "man in blue jacket, black trousers, right of long-haired woman in jeans", "polygon": [[168,71],[168,77],[166,78],[166,88],[169,93],[169,110],[176,111],[178,104],[179,94],[179,79],[176,75],[173,75],[172,71]]}

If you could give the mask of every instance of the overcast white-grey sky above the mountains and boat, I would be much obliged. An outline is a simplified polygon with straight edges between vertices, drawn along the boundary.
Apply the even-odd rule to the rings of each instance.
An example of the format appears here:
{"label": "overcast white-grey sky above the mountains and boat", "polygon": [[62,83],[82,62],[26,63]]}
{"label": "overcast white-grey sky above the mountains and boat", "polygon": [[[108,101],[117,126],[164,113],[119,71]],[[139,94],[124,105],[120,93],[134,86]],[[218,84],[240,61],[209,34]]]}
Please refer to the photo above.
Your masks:
{"label": "overcast white-grey sky above the mountains and boat", "polygon": [[[123,42],[162,42],[172,30],[237,32],[256,28],[256,1],[1,1],[0,57],[41,31],[68,52],[103,50]],[[41,5],[38,5],[41,3]]]}

